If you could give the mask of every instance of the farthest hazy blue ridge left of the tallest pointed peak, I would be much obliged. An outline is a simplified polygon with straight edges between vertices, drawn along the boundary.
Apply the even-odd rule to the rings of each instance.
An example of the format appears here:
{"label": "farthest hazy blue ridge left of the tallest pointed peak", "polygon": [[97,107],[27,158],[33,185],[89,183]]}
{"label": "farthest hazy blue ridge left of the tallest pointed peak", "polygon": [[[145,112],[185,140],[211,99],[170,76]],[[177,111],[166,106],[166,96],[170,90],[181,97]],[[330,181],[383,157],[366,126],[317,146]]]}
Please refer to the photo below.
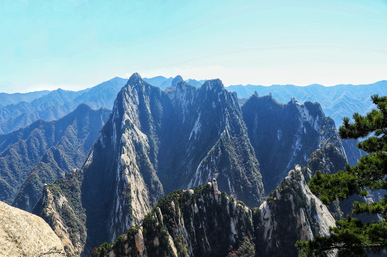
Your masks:
{"label": "farthest hazy blue ridge left of the tallest pointed peak", "polygon": [[56,120],[72,112],[81,103],[92,108],[113,108],[118,91],[127,79],[115,77],[92,88],[80,91],[57,89],[30,103],[22,101],[0,108],[0,133],[6,134],[26,127],[35,120]]}

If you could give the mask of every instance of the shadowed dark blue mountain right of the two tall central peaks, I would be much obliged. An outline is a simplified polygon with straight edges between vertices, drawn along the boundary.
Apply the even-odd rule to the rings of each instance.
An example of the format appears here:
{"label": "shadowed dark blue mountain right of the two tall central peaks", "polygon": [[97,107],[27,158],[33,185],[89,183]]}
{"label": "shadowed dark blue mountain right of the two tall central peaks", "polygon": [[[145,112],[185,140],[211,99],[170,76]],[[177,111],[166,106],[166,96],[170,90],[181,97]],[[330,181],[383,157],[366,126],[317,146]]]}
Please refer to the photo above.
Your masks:
{"label": "shadowed dark blue mountain right of the two tall central peaks", "polygon": [[318,103],[301,105],[291,98],[285,105],[256,94],[241,109],[266,191],[276,188],[291,167],[307,165],[310,154],[328,143],[345,156],[334,121]]}

